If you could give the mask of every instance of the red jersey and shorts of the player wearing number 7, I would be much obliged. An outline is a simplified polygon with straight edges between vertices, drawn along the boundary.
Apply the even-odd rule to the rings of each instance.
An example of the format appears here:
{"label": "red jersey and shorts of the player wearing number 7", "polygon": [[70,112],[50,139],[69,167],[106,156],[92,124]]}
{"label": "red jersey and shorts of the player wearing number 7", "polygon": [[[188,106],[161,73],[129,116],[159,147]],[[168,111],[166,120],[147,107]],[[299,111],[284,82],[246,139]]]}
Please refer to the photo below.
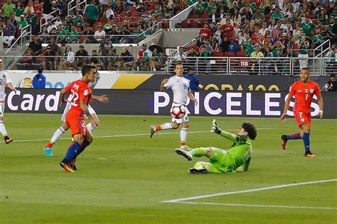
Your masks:
{"label": "red jersey and shorts of the player wearing number 7", "polygon": [[294,117],[299,125],[311,123],[311,101],[316,95],[321,96],[319,85],[309,80],[308,84],[304,84],[301,80],[290,86],[289,96],[295,96]]}

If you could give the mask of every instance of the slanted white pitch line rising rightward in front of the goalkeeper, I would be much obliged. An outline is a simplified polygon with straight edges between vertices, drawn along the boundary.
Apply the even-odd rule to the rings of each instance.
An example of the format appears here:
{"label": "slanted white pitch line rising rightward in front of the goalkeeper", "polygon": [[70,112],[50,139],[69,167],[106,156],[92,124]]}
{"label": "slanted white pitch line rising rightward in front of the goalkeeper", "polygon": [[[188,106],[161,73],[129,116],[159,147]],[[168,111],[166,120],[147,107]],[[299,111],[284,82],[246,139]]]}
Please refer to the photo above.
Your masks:
{"label": "slanted white pitch line rising rightward in front of the goalkeeper", "polygon": [[326,179],[322,181],[309,181],[309,182],[302,182],[302,183],[296,183],[296,184],[282,184],[282,185],[276,185],[276,186],[268,186],[268,187],[262,187],[260,189],[250,189],[245,191],[230,191],[225,193],[218,193],[218,194],[208,194],[203,196],[194,196],[189,198],[180,198],[180,199],[174,199],[169,201],[161,201],[164,203],[180,203],[181,201],[190,201],[190,200],[196,200],[200,198],[210,198],[215,196],[223,196],[223,195],[230,195],[230,194],[243,194],[243,193],[250,193],[250,192],[257,192],[257,191],[267,191],[272,189],[281,189],[288,186],[301,186],[301,185],[308,185],[308,184],[319,184],[319,183],[325,183],[325,182],[332,182],[337,181],[337,179]]}

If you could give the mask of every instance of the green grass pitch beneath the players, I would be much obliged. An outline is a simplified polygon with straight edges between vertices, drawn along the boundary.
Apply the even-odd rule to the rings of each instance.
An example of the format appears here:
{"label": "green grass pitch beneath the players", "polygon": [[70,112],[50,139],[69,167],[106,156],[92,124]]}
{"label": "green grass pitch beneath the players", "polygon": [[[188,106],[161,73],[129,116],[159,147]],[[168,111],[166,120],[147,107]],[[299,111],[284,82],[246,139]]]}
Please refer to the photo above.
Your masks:
{"label": "green grass pitch beneath the players", "polygon": [[[298,130],[294,119],[217,118],[233,133],[244,121],[259,128],[250,169],[191,175],[188,168],[206,159],[175,154],[179,130],[149,138],[149,125],[169,116],[100,116],[97,138],[72,174],[58,165],[69,132],[54,145],[54,157],[43,154],[60,115],[5,113],[5,119],[14,142],[0,142],[0,223],[337,223],[336,120],[314,118],[313,159],[304,157],[301,140],[280,148],[279,136]],[[212,120],[190,117],[189,146],[230,147],[209,132]],[[189,197],[196,198],[163,202]]]}

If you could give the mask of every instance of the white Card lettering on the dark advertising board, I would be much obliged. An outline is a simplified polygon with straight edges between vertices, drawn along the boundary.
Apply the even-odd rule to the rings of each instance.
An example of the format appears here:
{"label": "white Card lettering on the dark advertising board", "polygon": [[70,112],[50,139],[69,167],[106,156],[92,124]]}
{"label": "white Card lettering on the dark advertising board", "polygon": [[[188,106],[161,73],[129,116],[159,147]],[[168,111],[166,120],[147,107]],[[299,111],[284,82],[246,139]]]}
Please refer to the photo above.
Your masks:
{"label": "white Card lettering on the dark advertising board", "polygon": [[21,94],[20,90],[6,94],[6,106],[11,111],[58,111],[60,91],[46,94]]}

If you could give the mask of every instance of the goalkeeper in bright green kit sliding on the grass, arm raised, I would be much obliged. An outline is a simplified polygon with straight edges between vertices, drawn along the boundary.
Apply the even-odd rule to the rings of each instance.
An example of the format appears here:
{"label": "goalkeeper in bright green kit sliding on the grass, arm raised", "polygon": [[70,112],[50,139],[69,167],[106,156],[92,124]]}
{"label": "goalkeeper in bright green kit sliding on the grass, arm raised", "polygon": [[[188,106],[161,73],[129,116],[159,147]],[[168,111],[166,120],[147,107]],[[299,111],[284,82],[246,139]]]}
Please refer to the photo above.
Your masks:
{"label": "goalkeeper in bright green kit sliding on the grass, arm raised", "polygon": [[257,135],[254,125],[242,123],[237,135],[233,135],[218,128],[216,121],[213,120],[210,132],[217,133],[234,142],[232,147],[228,151],[216,147],[198,147],[188,152],[179,148],[176,149],[178,155],[182,155],[190,161],[193,157],[210,158],[210,162],[196,162],[188,172],[191,174],[205,174],[207,172],[222,174],[247,171],[250,166],[250,153],[252,152],[250,140],[255,140]]}

